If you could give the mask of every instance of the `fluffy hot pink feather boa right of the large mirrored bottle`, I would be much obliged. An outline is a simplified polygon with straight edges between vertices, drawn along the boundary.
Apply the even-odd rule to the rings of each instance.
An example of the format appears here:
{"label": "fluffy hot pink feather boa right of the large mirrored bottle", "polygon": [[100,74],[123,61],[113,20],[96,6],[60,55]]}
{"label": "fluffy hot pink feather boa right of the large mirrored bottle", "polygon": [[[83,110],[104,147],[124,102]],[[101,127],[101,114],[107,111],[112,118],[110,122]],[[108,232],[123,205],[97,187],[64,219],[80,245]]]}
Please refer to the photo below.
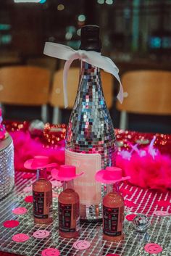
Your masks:
{"label": "fluffy hot pink feather boa right of the large mirrored bottle", "polygon": [[146,151],[140,156],[133,152],[130,159],[117,155],[117,166],[122,168],[125,176],[130,176],[130,183],[142,188],[166,190],[171,189],[171,159],[157,152],[153,157]]}

